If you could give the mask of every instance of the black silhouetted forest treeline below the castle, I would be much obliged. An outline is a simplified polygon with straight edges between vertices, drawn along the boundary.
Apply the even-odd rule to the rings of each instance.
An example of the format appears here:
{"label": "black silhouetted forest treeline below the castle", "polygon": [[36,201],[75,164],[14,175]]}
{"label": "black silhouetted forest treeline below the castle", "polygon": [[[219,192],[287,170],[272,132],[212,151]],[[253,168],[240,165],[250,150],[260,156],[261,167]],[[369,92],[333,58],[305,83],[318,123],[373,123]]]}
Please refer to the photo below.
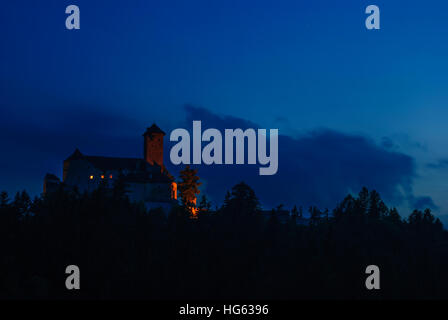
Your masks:
{"label": "black silhouetted forest treeline below the castle", "polygon": [[[448,236],[430,210],[402,219],[375,191],[332,212],[261,214],[244,183],[221,208],[169,215],[130,203],[122,187],[0,196],[2,299],[448,298]],[[300,210],[301,212],[301,210]],[[65,288],[77,265],[81,290]],[[381,289],[365,287],[368,265]]]}

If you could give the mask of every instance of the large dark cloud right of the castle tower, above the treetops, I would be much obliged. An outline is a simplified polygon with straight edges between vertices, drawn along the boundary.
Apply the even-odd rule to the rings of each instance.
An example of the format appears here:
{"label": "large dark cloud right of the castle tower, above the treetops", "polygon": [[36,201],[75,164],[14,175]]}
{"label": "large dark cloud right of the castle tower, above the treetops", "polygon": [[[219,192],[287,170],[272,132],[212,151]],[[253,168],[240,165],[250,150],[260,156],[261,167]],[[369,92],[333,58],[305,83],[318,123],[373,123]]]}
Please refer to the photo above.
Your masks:
{"label": "large dark cloud right of the castle tower, above the treetops", "polygon": [[[203,108],[186,106],[185,111],[182,127],[187,129],[193,120],[202,121],[202,130],[260,128],[253,122],[220,116]],[[207,182],[206,194],[218,203],[240,181],[251,185],[268,208],[280,203],[332,208],[348,192],[357,193],[363,186],[379,191],[393,205],[416,199],[412,193],[416,176],[414,159],[360,135],[322,129],[293,138],[280,132],[278,173],[259,176],[258,167],[200,165],[198,169]],[[429,197],[414,202],[434,205]]]}

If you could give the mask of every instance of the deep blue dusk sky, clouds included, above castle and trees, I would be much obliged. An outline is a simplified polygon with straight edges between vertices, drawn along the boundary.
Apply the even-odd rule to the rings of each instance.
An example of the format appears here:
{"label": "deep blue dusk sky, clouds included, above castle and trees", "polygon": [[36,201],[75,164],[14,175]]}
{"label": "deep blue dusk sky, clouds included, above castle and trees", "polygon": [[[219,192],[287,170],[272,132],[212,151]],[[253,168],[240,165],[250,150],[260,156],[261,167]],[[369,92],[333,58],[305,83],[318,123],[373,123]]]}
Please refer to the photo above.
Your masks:
{"label": "deep blue dusk sky, clouds included, above castle and trees", "polygon": [[[381,30],[364,26],[369,4]],[[447,17],[442,0],[3,3],[0,189],[40,192],[75,147],[141,156],[153,122],[250,122],[283,135],[279,174],[203,168],[216,201],[240,178],[267,206],[332,207],[367,185],[444,214]]]}

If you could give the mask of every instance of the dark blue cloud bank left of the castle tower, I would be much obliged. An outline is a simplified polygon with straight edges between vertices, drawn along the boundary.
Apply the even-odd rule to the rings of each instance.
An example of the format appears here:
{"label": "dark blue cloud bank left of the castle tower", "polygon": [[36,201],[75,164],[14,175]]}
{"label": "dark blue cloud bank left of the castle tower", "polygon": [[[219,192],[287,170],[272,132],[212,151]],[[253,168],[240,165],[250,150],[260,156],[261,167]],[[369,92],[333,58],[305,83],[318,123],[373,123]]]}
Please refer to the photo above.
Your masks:
{"label": "dark blue cloud bank left of the castle tower", "polygon": [[98,107],[63,106],[0,110],[1,190],[39,194],[45,174],[61,176],[62,161],[75,148],[92,155],[142,155],[142,124]]}

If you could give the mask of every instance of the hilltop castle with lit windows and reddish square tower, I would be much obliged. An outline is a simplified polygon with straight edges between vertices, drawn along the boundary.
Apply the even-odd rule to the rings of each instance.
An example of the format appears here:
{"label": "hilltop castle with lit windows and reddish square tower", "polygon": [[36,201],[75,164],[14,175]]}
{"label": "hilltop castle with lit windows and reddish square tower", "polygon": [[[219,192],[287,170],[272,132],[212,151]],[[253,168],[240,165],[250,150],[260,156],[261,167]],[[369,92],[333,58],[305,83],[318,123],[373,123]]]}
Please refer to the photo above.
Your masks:
{"label": "hilltop castle with lit windows and reddish square tower", "polygon": [[78,149],[63,165],[62,181],[53,174],[44,179],[44,193],[63,185],[80,193],[92,192],[100,185],[113,188],[120,179],[132,202],[150,208],[169,209],[177,202],[177,184],[163,164],[163,132],[153,124],[143,134],[143,158],[87,156]]}

